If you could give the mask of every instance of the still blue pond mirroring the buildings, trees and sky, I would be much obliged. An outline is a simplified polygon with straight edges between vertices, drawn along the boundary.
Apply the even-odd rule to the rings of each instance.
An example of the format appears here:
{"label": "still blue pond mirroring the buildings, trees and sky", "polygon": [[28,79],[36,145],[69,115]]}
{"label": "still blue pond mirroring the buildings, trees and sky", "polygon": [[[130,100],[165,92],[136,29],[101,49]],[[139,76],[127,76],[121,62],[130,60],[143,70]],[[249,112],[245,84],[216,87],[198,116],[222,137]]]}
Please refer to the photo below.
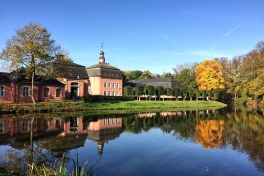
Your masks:
{"label": "still blue pond mirroring the buildings, trees and sky", "polygon": [[[62,117],[64,116],[64,117]],[[262,110],[169,110],[107,115],[0,118],[0,167],[67,168],[78,152],[98,176],[264,175]]]}

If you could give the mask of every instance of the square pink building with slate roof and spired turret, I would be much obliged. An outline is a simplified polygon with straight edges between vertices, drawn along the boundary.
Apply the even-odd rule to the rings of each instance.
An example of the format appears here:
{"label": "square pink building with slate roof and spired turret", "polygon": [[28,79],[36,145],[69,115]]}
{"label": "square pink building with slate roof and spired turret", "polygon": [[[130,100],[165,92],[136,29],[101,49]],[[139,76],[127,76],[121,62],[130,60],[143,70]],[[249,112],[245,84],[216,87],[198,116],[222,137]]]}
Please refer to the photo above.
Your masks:
{"label": "square pink building with slate roof and spired turret", "polygon": [[89,77],[88,92],[91,95],[123,95],[123,78],[120,69],[105,63],[104,51],[100,52],[99,62],[87,67]]}

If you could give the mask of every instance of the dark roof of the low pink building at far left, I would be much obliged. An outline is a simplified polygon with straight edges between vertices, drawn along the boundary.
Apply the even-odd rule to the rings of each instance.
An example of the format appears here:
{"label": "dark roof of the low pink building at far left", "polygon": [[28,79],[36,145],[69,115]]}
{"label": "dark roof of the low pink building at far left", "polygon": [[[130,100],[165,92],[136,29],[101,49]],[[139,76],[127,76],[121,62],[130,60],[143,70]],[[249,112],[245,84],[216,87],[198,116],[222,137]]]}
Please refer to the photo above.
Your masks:
{"label": "dark roof of the low pink building at far left", "polygon": [[[0,72],[0,82],[2,83],[31,83],[31,79],[26,77],[20,72]],[[36,75],[35,84],[52,84],[52,85],[65,85],[58,81],[56,78],[44,78],[41,75]]]}

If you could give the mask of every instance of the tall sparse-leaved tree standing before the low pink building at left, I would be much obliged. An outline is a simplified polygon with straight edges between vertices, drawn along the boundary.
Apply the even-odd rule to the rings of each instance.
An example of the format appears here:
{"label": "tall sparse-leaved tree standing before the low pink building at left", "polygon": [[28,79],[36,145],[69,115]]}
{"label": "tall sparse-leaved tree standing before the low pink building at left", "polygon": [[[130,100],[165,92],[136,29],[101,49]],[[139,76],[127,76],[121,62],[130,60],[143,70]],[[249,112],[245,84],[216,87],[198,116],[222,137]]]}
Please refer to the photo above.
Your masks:
{"label": "tall sparse-leaved tree standing before the low pink building at left", "polygon": [[[70,62],[67,54],[50,39],[51,34],[40,24],[28,23],[16,30],[16,35],[7,40],[0,58],[11,70],[25,67],[25,76],[31,79],[31,98],[35,100],[36,74],[45,77],[60,77],[67,71],[66,64]],[[61,55],[64,54],[64,55]],[[63,57],[57,57],[57,56]],[[54,64],[56,63],[56,64]]]}

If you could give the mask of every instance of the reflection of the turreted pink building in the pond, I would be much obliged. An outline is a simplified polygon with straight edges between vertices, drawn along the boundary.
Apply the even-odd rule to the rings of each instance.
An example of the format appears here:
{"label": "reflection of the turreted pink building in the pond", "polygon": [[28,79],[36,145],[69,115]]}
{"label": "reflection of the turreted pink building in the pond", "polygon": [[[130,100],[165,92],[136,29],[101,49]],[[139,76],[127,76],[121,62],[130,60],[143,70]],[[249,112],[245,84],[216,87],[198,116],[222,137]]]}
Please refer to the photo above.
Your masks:
{"label": "reflection of the turreted pink building in the pond", "polygon": [[97,143],[98,154],[103,154],[104,144],[119,137],[122,132],[122,118],[103,118],[97,122],[90,122],[88,126],[88,139]]}

